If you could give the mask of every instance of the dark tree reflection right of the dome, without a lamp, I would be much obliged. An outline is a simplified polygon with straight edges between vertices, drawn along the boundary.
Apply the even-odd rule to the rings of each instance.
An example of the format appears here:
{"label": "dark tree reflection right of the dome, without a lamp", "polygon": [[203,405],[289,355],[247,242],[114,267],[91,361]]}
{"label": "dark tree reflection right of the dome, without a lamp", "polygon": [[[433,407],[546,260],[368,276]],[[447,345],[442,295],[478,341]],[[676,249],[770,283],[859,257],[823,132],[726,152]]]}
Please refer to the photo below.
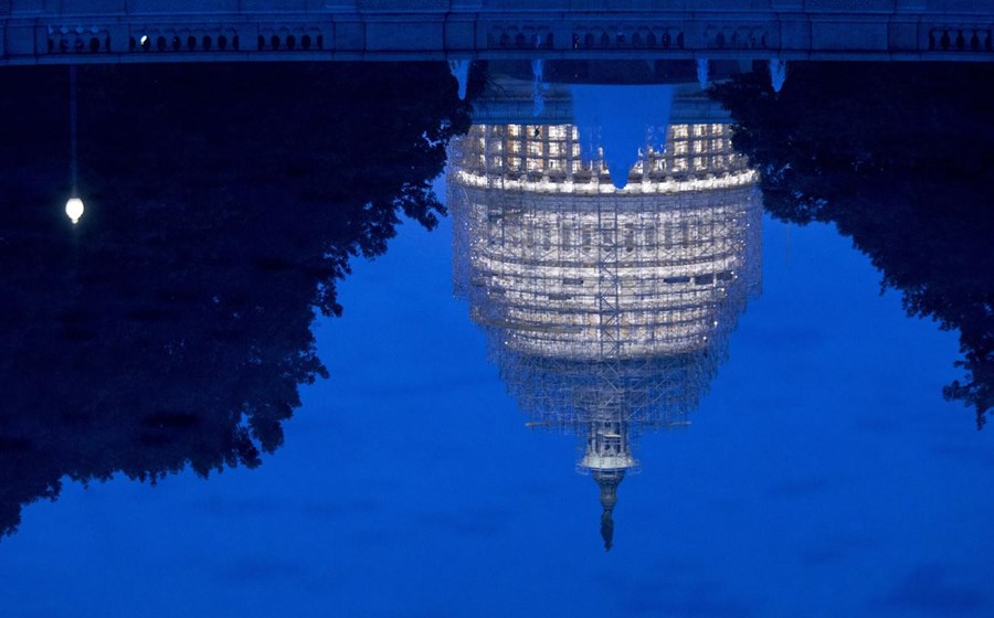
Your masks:
{"label": "dark tree reflection right of the dome, without a lamp", "polygon": [[944,388],[983,427],[994,385],[994,67],[794,64],[713,88],[765,207],[833,222],[902,292],[911,316],[960,331],[965,377]]}

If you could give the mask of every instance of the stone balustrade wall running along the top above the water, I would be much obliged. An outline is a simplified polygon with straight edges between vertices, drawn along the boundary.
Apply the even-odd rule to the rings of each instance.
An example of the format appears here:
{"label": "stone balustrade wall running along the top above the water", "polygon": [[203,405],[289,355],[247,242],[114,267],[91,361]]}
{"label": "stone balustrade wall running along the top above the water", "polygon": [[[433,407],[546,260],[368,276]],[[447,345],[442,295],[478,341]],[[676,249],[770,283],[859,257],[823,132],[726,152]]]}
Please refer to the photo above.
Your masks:
{"label": "stone balustrade wall running along the top above the water", "polygon": [[994,0],[0,0],[0,65],[990,61]]}

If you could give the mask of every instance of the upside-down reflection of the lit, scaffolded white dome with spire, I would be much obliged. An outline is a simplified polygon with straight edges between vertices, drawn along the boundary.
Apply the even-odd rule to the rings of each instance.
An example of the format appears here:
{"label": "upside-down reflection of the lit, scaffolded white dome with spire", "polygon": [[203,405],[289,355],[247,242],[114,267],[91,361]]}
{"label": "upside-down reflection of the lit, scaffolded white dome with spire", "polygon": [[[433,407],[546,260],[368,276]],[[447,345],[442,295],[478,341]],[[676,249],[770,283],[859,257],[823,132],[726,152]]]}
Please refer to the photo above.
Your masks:
{"label": "upside-down reflection of the lit, scaffolded white dome with spire", "polygon": [[663,152],[659,130],[623,190],[560,121],[476,125],[448,175],[456,290],[529,425],[582,439],[609,550],[638,434],[688,423],[760,285],[755,174],[729,126],[674,124]]}

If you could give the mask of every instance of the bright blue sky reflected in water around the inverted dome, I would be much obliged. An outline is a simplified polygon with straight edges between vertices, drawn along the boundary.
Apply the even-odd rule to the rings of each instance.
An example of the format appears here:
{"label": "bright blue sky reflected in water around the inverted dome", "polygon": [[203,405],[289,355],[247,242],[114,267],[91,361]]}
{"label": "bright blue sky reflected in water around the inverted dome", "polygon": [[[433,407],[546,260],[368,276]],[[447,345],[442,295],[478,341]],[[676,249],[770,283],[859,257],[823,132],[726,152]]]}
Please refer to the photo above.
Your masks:
{"label": "bright blue sky reflected in water around the inverted dome", "polygon": [[355,263],[316,322],[331,376],[261,468],[27,507],[3,614],[990,616],[994,450],[941,398],[955,333],[834,228],[764,221],[763,295],[692,424],[643,436],[610,553],[574,438],[525,427],[453,297],[451,241],[405,224]]}

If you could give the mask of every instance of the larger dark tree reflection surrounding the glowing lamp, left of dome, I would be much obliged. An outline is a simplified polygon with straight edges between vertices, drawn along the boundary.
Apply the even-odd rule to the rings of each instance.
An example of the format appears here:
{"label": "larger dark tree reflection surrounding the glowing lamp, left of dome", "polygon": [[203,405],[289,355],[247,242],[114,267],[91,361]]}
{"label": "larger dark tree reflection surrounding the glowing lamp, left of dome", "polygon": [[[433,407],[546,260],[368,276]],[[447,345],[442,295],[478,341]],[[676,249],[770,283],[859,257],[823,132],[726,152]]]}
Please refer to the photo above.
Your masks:
{"label": "larger dark tree reflection surrounding the glowing lamp, left of dome", "polygon": [[400,213],[432,227],[468,127],[444,64],[67,70],[0,90],[0,533],[64,477],[260,464],[327,372],[315,310]]}

